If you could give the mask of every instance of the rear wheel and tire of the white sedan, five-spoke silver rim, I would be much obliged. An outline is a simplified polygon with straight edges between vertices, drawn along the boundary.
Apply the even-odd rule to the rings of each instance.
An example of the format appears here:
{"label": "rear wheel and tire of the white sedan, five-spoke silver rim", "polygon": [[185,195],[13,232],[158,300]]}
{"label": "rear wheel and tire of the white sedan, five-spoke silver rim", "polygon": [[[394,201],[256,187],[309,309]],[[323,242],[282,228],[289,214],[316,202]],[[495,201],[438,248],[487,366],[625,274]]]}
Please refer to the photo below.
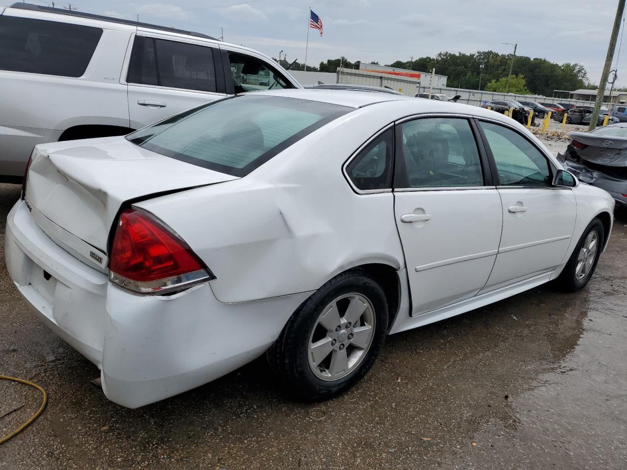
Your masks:
{"label": "rear wheel and tire of the white sedan, five-spoke silver rim", "polygon": [[[361,308],[363,313],[357,317]],[[387,321],[387,299],[381,286],[366,271],[353,269],[330,279],[298,307],[266,358],[293,394],[307,400],[329,399],[370,370],[385,340]],[[366,335],[370,335],[367,341]],[[314,352],[321,346],[325,349]]]}

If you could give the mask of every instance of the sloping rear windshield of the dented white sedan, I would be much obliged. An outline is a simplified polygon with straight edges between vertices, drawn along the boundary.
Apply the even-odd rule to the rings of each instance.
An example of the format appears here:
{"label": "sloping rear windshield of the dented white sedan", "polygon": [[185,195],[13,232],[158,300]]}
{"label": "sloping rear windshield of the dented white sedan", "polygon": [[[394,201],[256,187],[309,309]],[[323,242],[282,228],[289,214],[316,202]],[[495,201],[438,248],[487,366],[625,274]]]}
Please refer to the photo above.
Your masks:
{"label": "sloping rear windshield of the dented white sedan", "polygon": [[157,154],[229,175],[245,176],[352,109],[251,93],[194,108],[127,138]]}

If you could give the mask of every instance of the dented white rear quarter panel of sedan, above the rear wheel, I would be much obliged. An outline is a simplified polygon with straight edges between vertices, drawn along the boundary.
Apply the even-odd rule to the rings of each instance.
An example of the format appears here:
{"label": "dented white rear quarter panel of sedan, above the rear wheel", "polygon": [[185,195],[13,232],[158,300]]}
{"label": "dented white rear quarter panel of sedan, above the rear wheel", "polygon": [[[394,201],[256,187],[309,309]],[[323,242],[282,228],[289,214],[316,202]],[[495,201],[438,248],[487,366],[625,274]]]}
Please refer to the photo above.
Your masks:
{"label": "dented white rear quarter panel of sedan, above the rear wheel", "polygon": [[398,116],[375,107],[320,128],[242,179],[137,206],[203,259],[224,303],[316,290],[360,264],[402,269],[393,194],[356,194],[342,174],[345,160]]}

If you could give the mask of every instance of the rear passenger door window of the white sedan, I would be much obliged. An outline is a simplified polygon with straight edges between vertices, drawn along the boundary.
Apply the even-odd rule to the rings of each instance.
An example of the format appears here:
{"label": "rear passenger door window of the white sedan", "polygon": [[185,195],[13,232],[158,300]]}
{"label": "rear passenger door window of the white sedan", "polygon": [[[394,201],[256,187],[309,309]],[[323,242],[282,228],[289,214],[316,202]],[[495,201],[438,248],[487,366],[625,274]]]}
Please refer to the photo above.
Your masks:
{"label": "rear passenger door window of the white sedan", "polygon": [[[483,173],[470,123],[462,118],[424,118],[400,125],[396,187],[482,186]],[[406,177],[406,181],[401,178]]]}

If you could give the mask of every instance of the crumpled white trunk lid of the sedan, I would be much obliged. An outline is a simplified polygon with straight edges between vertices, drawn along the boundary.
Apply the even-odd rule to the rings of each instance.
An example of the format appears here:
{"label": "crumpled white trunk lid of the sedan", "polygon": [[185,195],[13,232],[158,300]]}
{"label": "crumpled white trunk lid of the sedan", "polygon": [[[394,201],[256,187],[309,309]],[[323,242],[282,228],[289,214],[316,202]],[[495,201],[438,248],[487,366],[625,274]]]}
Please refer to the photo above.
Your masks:
{"label": "crumpled white trunk lid of the sedan", "polygon": [[106,137],[35,147],[26,199],[50,238],[102,269],[122,204],[233,179],[142,149],[124,137]]}

